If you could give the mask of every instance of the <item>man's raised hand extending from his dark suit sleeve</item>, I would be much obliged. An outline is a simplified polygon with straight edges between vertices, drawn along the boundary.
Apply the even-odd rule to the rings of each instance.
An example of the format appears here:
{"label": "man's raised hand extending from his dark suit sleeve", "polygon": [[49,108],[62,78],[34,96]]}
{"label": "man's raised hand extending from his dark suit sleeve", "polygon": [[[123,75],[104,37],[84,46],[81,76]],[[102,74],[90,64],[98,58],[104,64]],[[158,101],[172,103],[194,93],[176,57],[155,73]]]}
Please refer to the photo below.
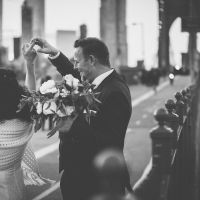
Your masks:
{"label": "man's raised hand extending from his dark suit sleeve", "polygon": [[40,48],[37,50],[39,53],[49,54],[55,56],[59,53],[59,50],[50,45],[46,40],[42,38],[33,38],[31,44],[38,45]]}

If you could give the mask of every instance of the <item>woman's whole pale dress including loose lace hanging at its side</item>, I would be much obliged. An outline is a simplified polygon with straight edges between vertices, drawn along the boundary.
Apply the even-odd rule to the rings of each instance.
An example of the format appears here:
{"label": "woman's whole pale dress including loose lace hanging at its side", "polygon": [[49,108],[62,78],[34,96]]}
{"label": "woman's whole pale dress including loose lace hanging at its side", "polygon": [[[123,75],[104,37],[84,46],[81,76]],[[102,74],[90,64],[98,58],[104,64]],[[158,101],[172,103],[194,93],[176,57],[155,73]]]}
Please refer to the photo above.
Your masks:
{"label": "woman's whole pale dress including loose lace hanging at its side", "polygon": [[28,145],[32,135],[31,123],[0,123],[0,200],[26,200],[25,185],[45,184]]}

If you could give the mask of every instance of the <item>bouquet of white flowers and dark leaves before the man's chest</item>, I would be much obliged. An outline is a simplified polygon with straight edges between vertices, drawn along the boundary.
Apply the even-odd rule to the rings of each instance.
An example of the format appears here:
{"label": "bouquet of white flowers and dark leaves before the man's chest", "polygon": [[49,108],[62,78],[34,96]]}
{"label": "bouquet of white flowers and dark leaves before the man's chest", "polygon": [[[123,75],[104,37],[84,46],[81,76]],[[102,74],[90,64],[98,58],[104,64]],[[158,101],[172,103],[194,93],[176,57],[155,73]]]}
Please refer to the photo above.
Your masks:
{"label": "bouquet of white flowers and dark leaves before the man's chest", "polygon": [[71,74],[63,77],[61,82],[48,80],[39,91],[32,91],[30,95],[22,96],[19,111],[28,106],[34,120],[34,130],[37,132],[48,117],[53,118],[53,129],[48,133],[51,137],[63,126],[63,122],[73,120],[83,114],[90,123],[90,117],[98,111],[93,85],[87,81],[79,82]]}

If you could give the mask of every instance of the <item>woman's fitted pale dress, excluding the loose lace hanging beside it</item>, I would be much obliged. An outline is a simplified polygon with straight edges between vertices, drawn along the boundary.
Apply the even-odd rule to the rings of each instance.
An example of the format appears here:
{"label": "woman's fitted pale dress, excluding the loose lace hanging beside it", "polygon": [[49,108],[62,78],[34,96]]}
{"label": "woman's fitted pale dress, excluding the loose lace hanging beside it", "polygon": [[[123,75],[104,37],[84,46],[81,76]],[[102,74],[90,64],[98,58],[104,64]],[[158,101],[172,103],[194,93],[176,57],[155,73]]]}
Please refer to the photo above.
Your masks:
{"label": "woman's fitted pale dress, excluding the loose lace hanging beside it", "polygon": [[32,124],[18,119],[0,123],[0,199],[25,198],[22,158],[33,135]]}

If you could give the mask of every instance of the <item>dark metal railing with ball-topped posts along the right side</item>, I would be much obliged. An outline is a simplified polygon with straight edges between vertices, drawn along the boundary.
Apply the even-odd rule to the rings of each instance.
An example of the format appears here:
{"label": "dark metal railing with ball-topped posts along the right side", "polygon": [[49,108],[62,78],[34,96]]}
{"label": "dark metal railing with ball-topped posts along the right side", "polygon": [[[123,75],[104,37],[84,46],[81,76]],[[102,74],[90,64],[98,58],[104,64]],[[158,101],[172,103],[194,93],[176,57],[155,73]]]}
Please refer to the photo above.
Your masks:
{"label": "dark metal railing with ball-topped posts along the right side", "polygon": [[200,85],[177,92],[154,117],[152,159],[135,194],[142,200],[199,199]]}

